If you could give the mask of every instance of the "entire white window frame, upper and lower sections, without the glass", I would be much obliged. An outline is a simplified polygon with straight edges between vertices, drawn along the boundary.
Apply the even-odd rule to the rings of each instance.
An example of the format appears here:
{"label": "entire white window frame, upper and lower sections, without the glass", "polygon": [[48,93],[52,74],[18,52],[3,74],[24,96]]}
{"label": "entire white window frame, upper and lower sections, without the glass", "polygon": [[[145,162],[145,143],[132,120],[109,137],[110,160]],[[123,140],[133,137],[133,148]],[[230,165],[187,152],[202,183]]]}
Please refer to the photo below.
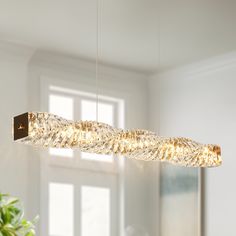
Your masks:
{"label": "entire white window frame, upper and lower sections, without the glass", "polygon": [[[63,88],[60,91],[59,88]],[[65,88],[65,89],[64,89]],[[77,90],[78,89],[78,90]],[[41,110],[48,110],[48,101],[50,91],[54,91],[53,94],[56,95],[68,95],[68,93],[75,94],[86,100],[89,98],[95,99],[94,90],[91,90],[91,86],[79,85],[78,83],[68,82],[60,79],[50,78],[48,76],[41,76],[40,85],[41,94]],[[56,92],[57,91],[57,92]],[[78,92],[79,91],[79,92]],[[83,92],[82,92],[83,91]],[[86,91],[86,92],[84,92]],[[67,93],[68,92],[68,93]],[[99,96],[99,101],[109,101],[114,105],[114,118],[121,118],[115,120],[115,125],[119,128],[124,128],[124,100],[120,98],[111,98],[109,96]],[[75,107],[77,105],[75,104]],[[74,111],[76,112],[76,111]],[[78,114],[74,114],[78,116]],[[79,155],[79,151],[76,150],[74,157]],[[79,155],[80,156],[80,155]],[[101,162],[100,161],[89,161],[81,160],[81,158],[63,158],[55,157],[49,154],[48,150],[42,150],[41,152],[41,234],[49,235],[49,214],[48,214],[48,185],[49,182],[53,183],[69,183],[74,185],[74,198],[77,201],[74,202],[76,210],[74,211],[74,218],[77,219],[76,224],[74,224],[74,236],[78,235],[80,232],[79,222],[80,216],[78,215],[80,202],[80,187],[82,185],[89,185],[94,187],[107,187],[111,190],[111,207],[112,215],[111,221],[115,224],[111,224],[111,235],[118,236],[123,234],[124,229],[124,177],[123,168],[124,160],[122,158],[114,158],[113,162]],[[64,170],[63,170],[64,169]],[[83,175],[83,182],[74,182],[75,178],[73,176],[72,169],[79,169]],[[88,171],[93,171],[93,176],[88,174]],[[61,175],[58,173],[61,172]],[[67,173],[67,174],[65,174]],[[72,173],[72,174],[71,174]],[[94,176],[97,176],[94,181]],[[108,177],[108,178],[107,178]],[[80,235],[80,234],[79,234]]]}

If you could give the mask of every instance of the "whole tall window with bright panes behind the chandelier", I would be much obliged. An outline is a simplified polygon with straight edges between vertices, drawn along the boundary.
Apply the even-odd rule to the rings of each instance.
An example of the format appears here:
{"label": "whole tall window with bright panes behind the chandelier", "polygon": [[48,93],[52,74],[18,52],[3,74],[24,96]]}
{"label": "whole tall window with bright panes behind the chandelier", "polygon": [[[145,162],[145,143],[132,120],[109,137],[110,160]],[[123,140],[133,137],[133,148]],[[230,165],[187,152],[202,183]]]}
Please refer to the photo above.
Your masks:
{"label": "whole tall window with bright panes behind the chandelier", "polygon": [[[68,86],[44,83],[43,110],[70,120],[96,120],[96,96]],[[122,100],[102,96],[98,121],[120,126]],[[119,234],[117,158],[79,150],[46,150],[42,158],[42,234],[113,236]]]}

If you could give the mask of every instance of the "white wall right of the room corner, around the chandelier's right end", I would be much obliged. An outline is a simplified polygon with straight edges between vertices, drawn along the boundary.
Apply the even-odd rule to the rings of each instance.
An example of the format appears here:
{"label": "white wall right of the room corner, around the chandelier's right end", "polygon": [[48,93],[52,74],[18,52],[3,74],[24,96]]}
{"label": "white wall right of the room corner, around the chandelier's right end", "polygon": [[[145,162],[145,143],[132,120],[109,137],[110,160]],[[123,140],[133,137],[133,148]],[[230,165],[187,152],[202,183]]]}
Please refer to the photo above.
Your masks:
{"label": "white wall right of the room corner, around the chandelier's right end", "polygon": [[161,135],[222,147],[223,166],[206,170],[205,235],[236,235],[236,54],[155,75],[149,91]]}

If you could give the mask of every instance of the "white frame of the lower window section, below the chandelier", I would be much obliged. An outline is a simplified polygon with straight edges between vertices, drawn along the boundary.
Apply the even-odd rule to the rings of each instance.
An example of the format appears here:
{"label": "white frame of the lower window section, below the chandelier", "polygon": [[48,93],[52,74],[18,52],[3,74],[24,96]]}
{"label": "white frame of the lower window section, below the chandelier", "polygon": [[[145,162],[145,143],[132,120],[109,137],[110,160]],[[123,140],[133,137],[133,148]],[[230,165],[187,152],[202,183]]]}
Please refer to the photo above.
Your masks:
{"label": "white frame of the lower window section, below the chandelier", "polygon": [[[45,167],[47,168],[47,167]],[[50,168],[50,167],[49,167]],[[44,169],[45,170],[45,169]],[[45,172],[44,172],[45,173]],[[79,176],[79,178],[78,178]],[[116,176],[109,175],[111,178],[107,178],[107,174],[94,172],[92,175],[87,171],[82,171],[79,173],[75,171],[71,171],[70,168],[50,168],[47,171],[47,176],[43,175],[42,179],[44,183],[43,191],[42,191],[42,200],[43,200],[43,209],[41,209],[41,234],[45,236],[49,236],[49,183],[61,183],[61,184],[72,184],[74,187],[74,236],[81,235],[81,186],[91,186],[91,187],[101,187],[110,189],[110,235],[118,236],[120,235],[119,223],[119,195],[117,186],[117,178]],[[41,204],[42,204],[41,203]],[[66,204],[66,201],[62,204]],[[113,222],[113,223],[112,223]],[[115,222],[115,223],[114,223]]]}

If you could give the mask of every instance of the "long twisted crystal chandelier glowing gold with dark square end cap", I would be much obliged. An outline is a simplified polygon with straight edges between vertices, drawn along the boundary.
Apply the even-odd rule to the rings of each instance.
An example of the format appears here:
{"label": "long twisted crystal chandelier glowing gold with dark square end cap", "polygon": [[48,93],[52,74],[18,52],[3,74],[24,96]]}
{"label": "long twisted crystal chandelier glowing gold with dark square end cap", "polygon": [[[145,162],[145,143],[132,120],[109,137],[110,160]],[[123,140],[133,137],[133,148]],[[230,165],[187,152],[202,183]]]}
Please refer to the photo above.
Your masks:
{"label": "long twisted crystal chandelier glowing gold with dark square end cap", "polygon": [[166,161],[186,167],[217,167],[221,151],[187,138],[164,138],[147,130],[122,130],[97,121],[69,121],[46,112],[14,117],[14,141],[38,147],[79,148],[137,160]]}

